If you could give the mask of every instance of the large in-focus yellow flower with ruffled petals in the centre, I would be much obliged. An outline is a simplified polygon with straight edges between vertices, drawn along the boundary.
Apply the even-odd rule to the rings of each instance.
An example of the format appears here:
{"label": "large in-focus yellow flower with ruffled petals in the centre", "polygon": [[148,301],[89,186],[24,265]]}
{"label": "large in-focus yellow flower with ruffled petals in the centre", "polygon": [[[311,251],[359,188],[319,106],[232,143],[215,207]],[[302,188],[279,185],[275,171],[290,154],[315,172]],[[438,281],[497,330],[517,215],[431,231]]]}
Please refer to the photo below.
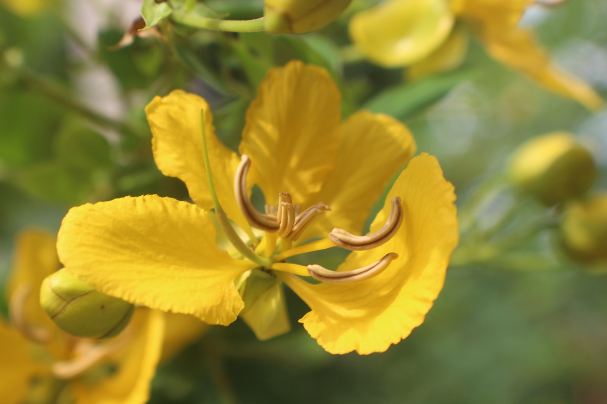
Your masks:
{"label": "large in-focus yellow flower with ruffled petals in the centre", "polygon": [[[242,314],[261,339],[288,330],[286,283],[311,308],[300,322],[337,354],[385,351],[424,321],[458,241],[453,187],[436,159],[415,157],[370,234],[354,236],[415,150],[400,122],[360,111],[340,123],[336,85],[301,62],[271,69],[260,85],[241,157],[215,137],[209,105],[194,94],[157,97],[146,113],[158,168],[183,180],[196,205],[148,195],[72,208],[58,251],[76,276],[110,296],[211,324]],[[253,184],[265,213],[249,200]],[[356,250],[337,271],[285,262],[336,243]]]}

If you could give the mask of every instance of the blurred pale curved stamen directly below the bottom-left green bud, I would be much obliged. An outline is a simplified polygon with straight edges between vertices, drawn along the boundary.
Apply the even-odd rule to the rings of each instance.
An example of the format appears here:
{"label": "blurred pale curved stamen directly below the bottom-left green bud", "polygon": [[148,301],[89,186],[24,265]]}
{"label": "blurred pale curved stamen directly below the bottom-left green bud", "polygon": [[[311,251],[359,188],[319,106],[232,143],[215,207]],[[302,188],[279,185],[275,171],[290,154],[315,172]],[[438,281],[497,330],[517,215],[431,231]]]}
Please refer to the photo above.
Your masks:
{"label": "blurred pale curved stamen directly below the bottom-left green bud", "polygon": [[[133,336],[133,329],[129,327],[114,340],[106,343],[96,343],[89,340],[78,340],[80,348],[84,348],[81,356],[72,360],[58,360],[53,363],[53,375],[57,379],[67,380],[80,376],[84,372],[98,365],[102,360],[126,347]],[[92,345],[92,346],[91,346]],[[76,349],[78,346],[76,346]]]}

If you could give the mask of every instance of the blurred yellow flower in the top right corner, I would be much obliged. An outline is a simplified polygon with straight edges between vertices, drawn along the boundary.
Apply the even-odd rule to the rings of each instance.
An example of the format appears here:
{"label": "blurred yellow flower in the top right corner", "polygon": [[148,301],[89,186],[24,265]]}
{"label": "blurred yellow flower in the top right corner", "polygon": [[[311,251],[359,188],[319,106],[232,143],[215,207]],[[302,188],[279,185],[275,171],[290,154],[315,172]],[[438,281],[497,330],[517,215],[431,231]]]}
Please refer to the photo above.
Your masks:
{"label": "blurred yellow flower in the top right corner", "polygon": [[532,31],[518,27],[533,0],[388,0],[358,13],[350,35],[384,67],[409,66],[419,77],[456,67],[467,50],[465,30],[492,58],[591,110],[605,102],[580,79],[553,64]]}

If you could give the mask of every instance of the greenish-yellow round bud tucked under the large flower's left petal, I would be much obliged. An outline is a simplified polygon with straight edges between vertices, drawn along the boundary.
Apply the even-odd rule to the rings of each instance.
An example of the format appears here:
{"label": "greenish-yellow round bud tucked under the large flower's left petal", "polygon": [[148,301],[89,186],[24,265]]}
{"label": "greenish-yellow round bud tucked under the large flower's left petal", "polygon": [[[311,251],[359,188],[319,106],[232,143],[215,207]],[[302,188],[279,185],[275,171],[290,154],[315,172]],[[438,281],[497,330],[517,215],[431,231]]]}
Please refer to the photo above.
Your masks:
{"label": "greenish-yellow round bud tucked under the large flower's left petal", "polygon": [[40,305],[55,324],[76,337],[107,338],[131,320],[134,306],[100,293],[65,269],[44,279]]}

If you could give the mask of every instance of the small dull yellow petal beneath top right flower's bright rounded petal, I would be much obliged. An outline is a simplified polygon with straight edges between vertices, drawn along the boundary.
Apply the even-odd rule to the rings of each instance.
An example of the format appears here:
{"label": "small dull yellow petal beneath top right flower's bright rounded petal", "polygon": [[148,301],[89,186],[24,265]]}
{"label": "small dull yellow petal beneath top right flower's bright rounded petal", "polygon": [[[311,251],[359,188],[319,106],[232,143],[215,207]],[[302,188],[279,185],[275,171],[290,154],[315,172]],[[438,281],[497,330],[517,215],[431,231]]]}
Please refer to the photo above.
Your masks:
{"label": "small dull yellow petal beneath top right flower's bright rounded petal", "polygon": [[443,45],[407,69],[407,77],[419,79],[459,67],[466,56],[468,42],[467,32],[457,25]]}

